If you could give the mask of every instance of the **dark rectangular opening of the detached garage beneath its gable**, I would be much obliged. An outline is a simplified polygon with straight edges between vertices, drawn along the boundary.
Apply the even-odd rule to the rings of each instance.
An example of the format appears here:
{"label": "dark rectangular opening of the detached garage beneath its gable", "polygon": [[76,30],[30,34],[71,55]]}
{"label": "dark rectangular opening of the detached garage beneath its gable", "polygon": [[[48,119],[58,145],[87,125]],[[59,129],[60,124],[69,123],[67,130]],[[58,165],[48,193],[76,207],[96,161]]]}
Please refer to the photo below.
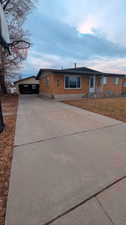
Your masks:
{"label": "dark rectangular opening of the detached garage beneath its gable", "polygon": [[20,94],[39,94],[39,84],[20,84]]}

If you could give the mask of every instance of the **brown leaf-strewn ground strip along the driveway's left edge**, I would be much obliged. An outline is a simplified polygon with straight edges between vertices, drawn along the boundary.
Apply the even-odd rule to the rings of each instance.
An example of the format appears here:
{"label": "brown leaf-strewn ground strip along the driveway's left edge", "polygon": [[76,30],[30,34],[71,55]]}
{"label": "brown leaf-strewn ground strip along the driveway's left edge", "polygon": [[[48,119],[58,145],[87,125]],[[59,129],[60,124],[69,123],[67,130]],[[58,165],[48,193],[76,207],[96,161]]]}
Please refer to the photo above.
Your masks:
{"label": "brown leaf-strewn ground strip along the driveway's left edge", "polygon": [[13,156],[18,97],[5,96],[0,99],[5,123],[5,130],[0,134],[0,225],[3,225]]}

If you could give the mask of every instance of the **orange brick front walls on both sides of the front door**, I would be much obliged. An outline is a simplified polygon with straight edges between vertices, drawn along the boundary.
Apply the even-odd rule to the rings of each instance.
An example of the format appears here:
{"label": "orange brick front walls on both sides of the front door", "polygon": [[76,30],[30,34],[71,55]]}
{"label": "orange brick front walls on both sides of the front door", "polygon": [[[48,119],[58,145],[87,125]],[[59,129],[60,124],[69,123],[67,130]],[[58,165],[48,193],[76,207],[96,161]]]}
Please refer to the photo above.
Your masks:
{"label": "orange brick front walls on both sides of the front door", "polygon": [[[79,89],[66,89],[64,87],[64,74],[54,72],[44,72],[39,77],[40,80],[40,95],[45,95],[51,98],[75,98],[85,97],[89,95],[89,79],[90,77],[79,75],[81,80],[81,88]],[[73,75],[72,75],[73,76]],[[76,75],[75,75],[76,76]],[[126,79],[114,76],[107,77],[107,83],[101,83],[101,77],[96,77],[95,94],[98,97],[103,96],[120,96],[126,93]]]}

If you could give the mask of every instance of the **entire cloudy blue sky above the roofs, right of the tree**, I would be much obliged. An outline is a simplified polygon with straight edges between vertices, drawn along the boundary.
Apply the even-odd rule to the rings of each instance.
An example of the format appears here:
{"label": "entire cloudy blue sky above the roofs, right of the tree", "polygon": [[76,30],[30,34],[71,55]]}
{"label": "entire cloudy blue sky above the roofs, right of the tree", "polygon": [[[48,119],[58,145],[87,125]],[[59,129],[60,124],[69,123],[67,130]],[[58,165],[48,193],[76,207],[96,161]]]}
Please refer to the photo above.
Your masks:
{"label": "entire cloudy blue sky above the roofs, right of the tree", "polygon": [[126,0],[38,0],[25,23],[32,47],[20,72],[36,75],[76,62],[126,74],[125,11]]}

